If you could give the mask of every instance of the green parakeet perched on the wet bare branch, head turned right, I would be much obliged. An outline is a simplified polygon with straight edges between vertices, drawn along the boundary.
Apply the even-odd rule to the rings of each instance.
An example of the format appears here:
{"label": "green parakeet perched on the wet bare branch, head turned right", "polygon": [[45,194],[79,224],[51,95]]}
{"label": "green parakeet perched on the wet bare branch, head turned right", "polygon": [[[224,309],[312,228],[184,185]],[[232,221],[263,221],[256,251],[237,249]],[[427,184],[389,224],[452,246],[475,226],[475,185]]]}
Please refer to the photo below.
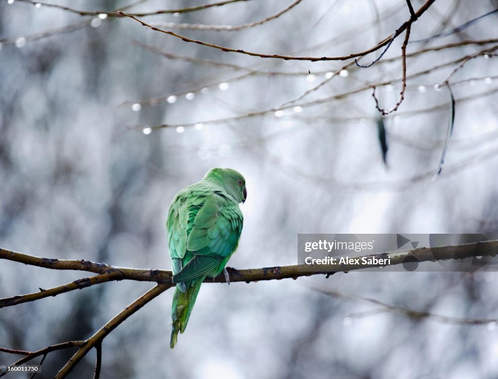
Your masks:
{"label": "green parakeet perched on the wet bare branch, head turned right", "polygon": [[183,333],[202,282],[225,272],[237,249],[244,217],[239,203],[246,201],[244,177],[232,169],[212,169],[204,179],[176,194],[168,212],[169,255],[176,284],[171,306],[169,346]]}

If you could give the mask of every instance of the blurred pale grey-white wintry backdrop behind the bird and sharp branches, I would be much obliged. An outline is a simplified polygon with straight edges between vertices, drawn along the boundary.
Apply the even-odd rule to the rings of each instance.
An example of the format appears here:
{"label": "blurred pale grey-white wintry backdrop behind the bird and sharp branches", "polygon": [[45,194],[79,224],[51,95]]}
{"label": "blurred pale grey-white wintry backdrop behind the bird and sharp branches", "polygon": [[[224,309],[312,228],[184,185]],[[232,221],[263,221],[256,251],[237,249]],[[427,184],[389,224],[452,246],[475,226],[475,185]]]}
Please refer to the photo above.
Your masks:
{"label": "blurred pale grey-white wintry backdrop behind the bird and sharp branches", "polygon": [[[81,10],[129,4],[58,3]],[[126,10],[201,3],[139,1]],[[423,1],[412,3],[418,9]],[[143,19],[237,26],[290,4],[250,0]],[[412,26],[411,39],[451,30],[496,7],[491,0],[437,0]],[[235,268],[297,263],[297,233],[496,232],[494,51],[470,59],[451,76],[455,129],[442,173],[431,179],[450,117],[450,95],[436,85],[466,56],[498,45],[492,39],[497,17],[408,44],[408,54],[428,50],[408,57],[405,99],[383,120],[386,168],[377,138],[380,113],[369,85],[377,86],[381,106],[396,103],[404,34],[381,62],[341,72],[351,61],[250,57],[186,43],[129,18],[2,0],[0,246],[35,256],[170,269],[169,203],[212,167],[237,169],[247,179],[244,230],[229,262]],[[404,0],[303,0],[276,19],[238,31],[164,27],[236,49],[322,57],[366,50],[408,18]],[[448,46],[483,40],[489,41]],[[445,48],[431,50],[436,46]],[[378,54],[360,61],[369,63]],[[149,128],[165,123],[173,126]],[[86,276],[2,260],[0,297]],[[168,346],[168,290],[105,339],[102,377],[498,377],[496,323],[454,325],[392,312],[354,317],[374,307],[321,294],[310,284],[448,316],[498,317],[496,273],[352,272],[327,280],[205,284],[174,350]],[[86,339],[152,285],[100,284],[3,308],[0,346],[34,351]],[[49,354],[39,377],[53,377],[73,353]],[[17,358],[0,353],[0,364]],[[92,351],[71,377],[91,377],[94,361]]]}

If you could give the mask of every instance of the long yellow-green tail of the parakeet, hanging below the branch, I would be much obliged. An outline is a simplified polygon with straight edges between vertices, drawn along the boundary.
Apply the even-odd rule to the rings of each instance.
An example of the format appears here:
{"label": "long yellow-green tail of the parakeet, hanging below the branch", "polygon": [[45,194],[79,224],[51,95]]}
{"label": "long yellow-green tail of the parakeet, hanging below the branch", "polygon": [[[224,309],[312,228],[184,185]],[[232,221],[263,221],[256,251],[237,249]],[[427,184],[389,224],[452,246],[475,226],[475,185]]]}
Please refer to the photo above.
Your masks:
{"label": "long yellow-green tail of the parakeet, hanging below the branch", "polygon": [[178,286],[175,287],[173,304],[171,306],[171,318],[173,320],[173,323],[171,324],[171,339],[169,342],[169,347],[171,349],[176,345],[178,332],[180,332],[180,334],[183,333],[187,327],[190,313],[192,313],[195,299],[197,298],[197,294],[199,293],[199,289],[201,288],[204,279],[204,277],[198,278],[195,283],[187,287],[185,292],[180,291]]}

